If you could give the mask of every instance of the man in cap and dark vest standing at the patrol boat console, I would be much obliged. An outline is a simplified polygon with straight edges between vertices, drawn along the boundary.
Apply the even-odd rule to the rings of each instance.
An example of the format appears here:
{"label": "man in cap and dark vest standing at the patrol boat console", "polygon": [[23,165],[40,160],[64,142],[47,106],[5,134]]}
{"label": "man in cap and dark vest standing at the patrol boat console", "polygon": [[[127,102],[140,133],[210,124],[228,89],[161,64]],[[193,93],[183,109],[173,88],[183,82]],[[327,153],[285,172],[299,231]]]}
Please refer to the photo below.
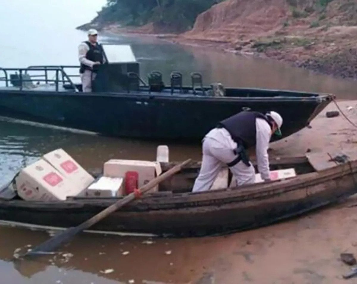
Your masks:
{"label": "man in cap and dark vest standing at the patrol boat console", "polygon": [[97,42],[98,32],[90,29],[87,32],[88,40],[78,46],[78,59],[81,64],[79,73],[82,82],[82,91],[92,91],[92,81],[96,76],[96,67],[105,62],[102,46]]}

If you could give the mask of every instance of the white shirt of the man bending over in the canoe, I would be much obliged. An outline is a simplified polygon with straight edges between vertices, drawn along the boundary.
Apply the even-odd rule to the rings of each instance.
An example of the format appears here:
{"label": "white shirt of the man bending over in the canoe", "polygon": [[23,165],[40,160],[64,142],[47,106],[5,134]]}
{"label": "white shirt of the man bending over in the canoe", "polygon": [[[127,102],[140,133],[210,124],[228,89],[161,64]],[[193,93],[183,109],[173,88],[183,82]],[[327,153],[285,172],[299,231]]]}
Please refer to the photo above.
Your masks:
{"label": "white shirt of the man bending over in the canoe", "polygon": [[[269,169],[269,155],[268,148],[271,138],[271,128],[262,118],[256,118],[256,157],[258,164],[258,172],[262,179],[267,180],[270,178]],[[210,131],[206,137],[213,138],[217,141],[224,142],[225,145],[229,145],[232,150],[237,148],[237,143],[232,140],[231,135],[225,128],[219,128],[218,131]]]}

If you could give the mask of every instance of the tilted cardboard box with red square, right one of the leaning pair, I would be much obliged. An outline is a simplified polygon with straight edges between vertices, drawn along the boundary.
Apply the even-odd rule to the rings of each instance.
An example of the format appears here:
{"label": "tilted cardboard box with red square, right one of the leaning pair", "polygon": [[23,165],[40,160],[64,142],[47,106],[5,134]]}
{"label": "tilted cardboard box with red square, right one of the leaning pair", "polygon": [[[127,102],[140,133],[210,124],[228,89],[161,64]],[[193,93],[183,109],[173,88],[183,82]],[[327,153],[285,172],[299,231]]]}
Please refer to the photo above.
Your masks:
{"label": "tilted cardboard box with red square, right one of the leaning pair", "polygon": [[49,152],[42,158],[57,169],[62,176],[69,178],[77,188],[83,190],[94,182],[94,177],[87,173],[86,170],[63,149]]}

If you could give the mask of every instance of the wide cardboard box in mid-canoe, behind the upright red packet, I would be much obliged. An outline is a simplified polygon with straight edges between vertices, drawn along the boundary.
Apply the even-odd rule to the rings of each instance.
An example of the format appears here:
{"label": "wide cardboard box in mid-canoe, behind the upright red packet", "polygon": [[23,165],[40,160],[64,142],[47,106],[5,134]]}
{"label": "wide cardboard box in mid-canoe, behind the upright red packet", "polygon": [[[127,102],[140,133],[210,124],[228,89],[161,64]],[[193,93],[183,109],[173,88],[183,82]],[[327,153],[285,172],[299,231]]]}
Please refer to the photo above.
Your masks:
{"label": "wide cardboard box in mid-canoe, behind the upright red packet", "polygon": [[[104,164],[103,171],[105,177],[120,177],[123,179],[125,179],[127,171],[136,171],[139,174],[138,187],[140,188],[161,174],[161,166],[159,162],[111,159]],[[159,185],[149,192],[156,191],[159,191]]]}

